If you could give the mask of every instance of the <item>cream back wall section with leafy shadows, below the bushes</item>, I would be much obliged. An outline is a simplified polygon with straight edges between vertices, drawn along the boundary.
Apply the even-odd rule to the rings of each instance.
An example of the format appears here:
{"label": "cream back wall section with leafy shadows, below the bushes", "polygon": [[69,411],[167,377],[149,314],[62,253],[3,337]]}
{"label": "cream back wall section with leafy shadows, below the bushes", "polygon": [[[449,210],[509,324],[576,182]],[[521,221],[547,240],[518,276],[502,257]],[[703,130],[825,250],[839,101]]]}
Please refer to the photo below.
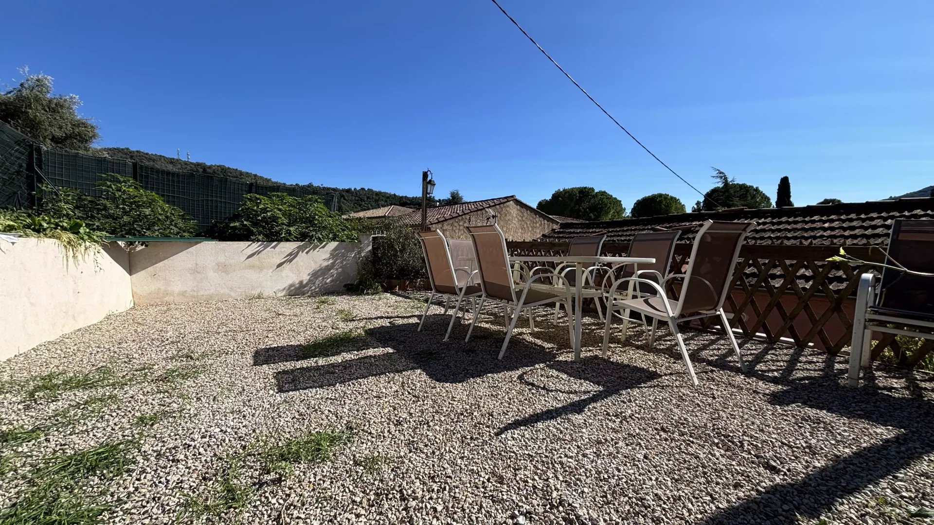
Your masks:
{"label": "cream back wall section with leafy shadows, below the bushes", "polygon": [[136,305],[344,291],[370,249],[359,243],[151,242],[134,251]]}

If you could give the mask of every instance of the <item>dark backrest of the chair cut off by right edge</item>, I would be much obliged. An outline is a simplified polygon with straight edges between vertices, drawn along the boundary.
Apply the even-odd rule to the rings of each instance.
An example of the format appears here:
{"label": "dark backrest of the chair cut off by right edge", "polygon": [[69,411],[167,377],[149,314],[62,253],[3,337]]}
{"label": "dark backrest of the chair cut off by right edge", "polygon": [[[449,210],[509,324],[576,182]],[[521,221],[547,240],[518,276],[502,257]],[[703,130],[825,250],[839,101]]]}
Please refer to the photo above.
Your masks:
{"label": "dark backrest of the chair cut off by right edge", "polygon": [[[934,220],[892,222],[888,255],[915,272],[934,273]],[[886,264],[892,264],[886,261]],[[907,313],[934,314],[934,277],[915,276],[884,268],[879,306]]]}

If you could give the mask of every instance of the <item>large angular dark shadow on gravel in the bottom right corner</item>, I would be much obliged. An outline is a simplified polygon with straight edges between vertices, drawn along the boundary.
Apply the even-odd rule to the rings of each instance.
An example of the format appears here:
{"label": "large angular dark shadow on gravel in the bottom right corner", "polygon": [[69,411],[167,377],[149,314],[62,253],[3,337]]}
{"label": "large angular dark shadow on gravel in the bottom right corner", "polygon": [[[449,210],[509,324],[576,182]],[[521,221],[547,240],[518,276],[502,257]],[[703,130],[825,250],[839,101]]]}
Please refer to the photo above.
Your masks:
{"label": "large angular dark shadow on gravel in the bottom right corner", "polygon": [[[695,333],[686,339],[690,341],[700,336]],[[735,360],[723,359],[722,356],[709,359],[694,350],[701,347],[692,347],[690,342],[687,344],[692,348],[692,360],[742,374]],[[800,404],[844,418],[899,428],[904,433],[844,456],[797,483],[773,486],[755,498],[707,518],[701,522],[704,525],[797,525],[802,518],[809,522],[818,520],[842,498],[886,476],[897,474],[913,461],[934,453],[934,429],[930,427],[930,421],[934,420],[934,403],[931,401],[891,395],[885,390],[892,389],[876,388],[871,384],[851,389],[843,385],[846,370],[837,366],[839,358],[799,348],[792,350],[791,359],[787,359],[786,353],[781,354],[784,357],[771,355],[772,349],[766,346],[755,355],[744,355],[750,370],[748,376],[785,387],[785,390],[771,393],[771,404]],[[911,388],[912,381],[908,383]]]}

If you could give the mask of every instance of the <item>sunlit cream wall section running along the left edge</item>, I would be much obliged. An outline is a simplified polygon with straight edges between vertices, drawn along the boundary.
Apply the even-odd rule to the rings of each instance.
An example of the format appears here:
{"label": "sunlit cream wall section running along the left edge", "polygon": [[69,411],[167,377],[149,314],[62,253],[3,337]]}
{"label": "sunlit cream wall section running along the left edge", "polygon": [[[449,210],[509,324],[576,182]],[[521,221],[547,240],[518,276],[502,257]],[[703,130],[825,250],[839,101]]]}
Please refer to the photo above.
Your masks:
{"label": "sunlit cream wall section running along the left edge", "polygon": [[129,266],[116,245],[74,262],[51,239],[0,241],[0,360],[133,306]]}

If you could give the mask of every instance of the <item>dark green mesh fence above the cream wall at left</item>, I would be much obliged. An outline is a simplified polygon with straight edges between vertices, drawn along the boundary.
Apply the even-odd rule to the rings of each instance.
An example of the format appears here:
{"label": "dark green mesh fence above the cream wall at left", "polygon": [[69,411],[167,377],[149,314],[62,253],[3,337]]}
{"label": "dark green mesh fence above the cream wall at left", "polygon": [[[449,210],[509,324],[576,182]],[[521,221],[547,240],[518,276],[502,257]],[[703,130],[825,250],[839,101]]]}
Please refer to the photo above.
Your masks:
{"label": "dark green mesh fence above the cream wall at left", "polygon": [[[30,158],[31,150],[35,156],[35,168]],[[95,184],[105,173],[134,177],[143,188],[159,193],[166,203],[191,215],[198,223],[199,231],[207,229],[215,220],[233,215],[248,193],[282,192],[293,197],[318,195],[331,210],[337,209],[333,193],[301,186],[246,182],[172,171],[123,159],[40,148],[28,137],[0,122],[0,206],[29,206],[34,177],[38,182],[47,181],[56,187],[74,188],[98,196],[100,192]]]}

